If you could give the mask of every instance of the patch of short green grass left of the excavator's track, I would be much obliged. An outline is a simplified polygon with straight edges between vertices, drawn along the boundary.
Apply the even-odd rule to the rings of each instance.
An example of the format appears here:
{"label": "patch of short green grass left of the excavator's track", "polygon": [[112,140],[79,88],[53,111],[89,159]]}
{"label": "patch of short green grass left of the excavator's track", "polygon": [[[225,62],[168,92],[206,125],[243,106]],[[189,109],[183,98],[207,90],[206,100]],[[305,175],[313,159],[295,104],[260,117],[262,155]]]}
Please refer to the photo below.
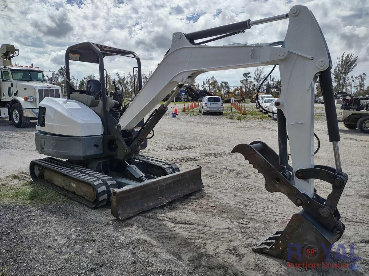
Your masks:
{"label": "patch of short green grass left of the excavator's track", "polygon": [[20,186],[3,184],[0,186],[0,202],[20,204],[45,204],[61,202],[65,197],[54,190],[35,182],[23,182]]}

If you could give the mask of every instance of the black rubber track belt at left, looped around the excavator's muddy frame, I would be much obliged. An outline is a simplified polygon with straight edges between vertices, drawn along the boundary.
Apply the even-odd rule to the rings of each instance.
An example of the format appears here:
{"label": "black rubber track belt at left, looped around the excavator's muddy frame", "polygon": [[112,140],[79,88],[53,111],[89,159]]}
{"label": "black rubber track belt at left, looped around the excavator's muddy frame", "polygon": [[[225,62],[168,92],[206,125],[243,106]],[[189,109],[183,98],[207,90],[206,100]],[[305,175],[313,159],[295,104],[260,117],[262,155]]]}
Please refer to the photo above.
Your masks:
{"label": "black rubber track belt at left, looped around the excavator's muddy frame", "polygon": [[[34,163],[39,164],[40,166],[43,166],[43,167],[47,167],[48,169],[54,170],[56,172],[62,173],[66,175],[67,177],[83,181],[93,186],[96,192],[96,200],[94,202],[91,202],[87,200],[86,198],[83,198],[75,194],[74,192],[65,190],[59,187],[58,185],[50,183],[49,181],[43,179],[42,177],[35,176],[34,170],[33,170]],[[98,173],[97,171],[87,169],[85,167],[79,166],[74,163],[70,163],[70,162],[52,158],[52,157],[32,160],[30,164],[30,173],[31,173],[32,180],[48,188],[51,188],[74,201],[77,201],[86,206],[89,206],[90,208],[97,208],[97,207],[110,203],[111,189],[118,188],[117,183],[110,176]]]}

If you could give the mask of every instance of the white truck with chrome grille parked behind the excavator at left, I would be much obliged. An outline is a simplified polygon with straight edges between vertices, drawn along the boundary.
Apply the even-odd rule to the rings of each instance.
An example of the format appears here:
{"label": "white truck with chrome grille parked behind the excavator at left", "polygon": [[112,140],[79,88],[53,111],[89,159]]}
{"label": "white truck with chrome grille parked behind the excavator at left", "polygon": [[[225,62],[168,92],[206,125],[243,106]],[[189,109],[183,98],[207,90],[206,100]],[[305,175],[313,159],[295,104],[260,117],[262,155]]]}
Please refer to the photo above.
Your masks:
{"label": "white truck with chrome grille parked behind the excavator at left", "polygon": [[[9,118],[15,127],[27,127],[37,120],[39,103],[46,97],[61,98],[61,88],[45,82],[44,70],[33,66],[14,66],[18,56],[14,45],[0,48],[0,118]],[[52,74],[55,80],[55,73]]]}

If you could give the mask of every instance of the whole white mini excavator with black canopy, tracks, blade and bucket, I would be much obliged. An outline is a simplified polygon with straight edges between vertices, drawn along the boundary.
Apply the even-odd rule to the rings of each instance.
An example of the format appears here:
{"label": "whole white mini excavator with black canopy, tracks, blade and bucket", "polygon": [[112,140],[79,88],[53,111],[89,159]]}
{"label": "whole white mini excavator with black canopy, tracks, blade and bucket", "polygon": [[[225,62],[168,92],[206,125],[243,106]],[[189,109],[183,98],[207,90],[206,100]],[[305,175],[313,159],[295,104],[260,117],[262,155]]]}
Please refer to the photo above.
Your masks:
{"label": "whole white mini excavator with black canopy, tracks, blade and bucket", "polygon": [[[283,41],[203,45],[285,19],[289,25]],[[129,106],[121,108],[120,116],[114,112],[122,106],[119,99],[110,99],[105,88],[106,56],[133,58],[138,64],[139,92]],[[337,204],[348,176],[342,172],[339,156],[332,62],[320,26],[307,7],[293,6],[286,14],[202,31],[175,32],[170,49],[144,86],[141,63],[133,51],[91,42],[70,46],[65,54],[67,79],[71,59],[99,64],[100,82],[87,81],[86,89],[79,91],[67,85],[68,99],[45,98],[40,103],[36,149],[51,157],[30,163],[34,181],[93,208],[111,204],[117,219],[197,191],[204,187],[200,166],[179,171],[173,163],[140,153],[155,125],[178,91],[203,72],[269,65],[274,69],[278,65],[282,82],[275,102],[279,154],[261,141],[235,145],[232,153],[241,153],[262,174],[266,190],[282,192],[302,210],[291,217],[283,231],[274,232],[252,250],[294,263],[319,263],[326,258],[325,249],[344,233]],[[335,167],[314,165],[314,85],[318,78]],[[168,101],[156,107],[173,88]],[[326,199],[318,195],[314,179],[332,185]],[[261,203],[260,208],[270,204]]]}

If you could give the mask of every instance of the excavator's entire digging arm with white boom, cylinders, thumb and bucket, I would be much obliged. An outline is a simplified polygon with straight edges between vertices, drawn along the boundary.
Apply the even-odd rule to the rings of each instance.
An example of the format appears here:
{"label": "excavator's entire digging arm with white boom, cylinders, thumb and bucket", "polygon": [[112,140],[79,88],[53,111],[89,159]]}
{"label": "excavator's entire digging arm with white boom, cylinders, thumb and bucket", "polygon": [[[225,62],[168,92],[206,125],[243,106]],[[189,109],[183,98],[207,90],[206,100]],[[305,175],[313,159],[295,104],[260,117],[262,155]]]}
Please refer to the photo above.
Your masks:
{"label": "excavator's entire digging arm with white boom, cylinders, thumb and bucket", "polygon": [[[281,43],[208,46],[194,40],[224,35],[253,25],[289,18],[286,37]],[[274,45],[274,46],[273,46]],[[281,45],[281,47],[275,46]],[[336,208],[347,181],[339,159],[338,123],[335,117],[331,80],[331,59],[320,26],[305,6],[294,6],[288,14],[256,21],[240,21],[194,33],[176,32],[170,50],[151,78],[142,87],[120,117],[121,130],[130,130],[178,85],[191,84],[203,72],[279,65],[282,91],[276,100],[279,155],[263,142],[235,146],[263,174],[266,189],[284,193],[304,210],[295,214],[284,231],[277,231],[259,243],[254,251],[264,252],[294,262],[318,262],[324,259],[322,244],[338,240],[344,225]],[[336,168],[314,166],[314,85],[320,77],[330,142]],[[292,166],[287,161],[287,132]],[[314,190],[314,178],[332,184],[327,201]],[[114,201],[114,198],[113,198]],[[299,255],[289,256],[289,245],[298,247]],[[318,253],[307,254],[314,248]],[[296,248],[293,248],[295,251]],[[315,252],[315,251],[314,251]]]}

